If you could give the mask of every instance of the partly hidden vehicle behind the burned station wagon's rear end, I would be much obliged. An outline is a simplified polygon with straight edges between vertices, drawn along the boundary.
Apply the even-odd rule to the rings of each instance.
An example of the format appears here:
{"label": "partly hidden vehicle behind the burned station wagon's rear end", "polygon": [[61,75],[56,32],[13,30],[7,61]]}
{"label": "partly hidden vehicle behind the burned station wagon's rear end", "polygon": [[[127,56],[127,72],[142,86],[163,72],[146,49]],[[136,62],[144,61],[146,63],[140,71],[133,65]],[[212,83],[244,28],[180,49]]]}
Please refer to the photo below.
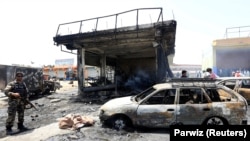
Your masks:
{"label": "partly hidden vehicle behind the burned station wagon's rear end", "polygon": [[250,105],[250,77],[220,77],[217,81],[241,94]]}

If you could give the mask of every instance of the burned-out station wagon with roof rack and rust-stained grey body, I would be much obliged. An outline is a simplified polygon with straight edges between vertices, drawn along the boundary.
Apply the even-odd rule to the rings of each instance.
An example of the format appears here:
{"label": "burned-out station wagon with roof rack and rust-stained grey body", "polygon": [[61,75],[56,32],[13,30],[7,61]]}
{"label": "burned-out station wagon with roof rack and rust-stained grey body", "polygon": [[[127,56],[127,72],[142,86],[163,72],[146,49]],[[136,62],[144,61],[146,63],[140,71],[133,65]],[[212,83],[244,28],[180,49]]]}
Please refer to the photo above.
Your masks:
{"label": "burned-out station wagon with roof rack and rust-stained grey body", "polygon": [[100,107],[103,125],[168,128],[170,125],[247,124],[247,102],[211,79],[172,79],[143,92],[111,99]]}

